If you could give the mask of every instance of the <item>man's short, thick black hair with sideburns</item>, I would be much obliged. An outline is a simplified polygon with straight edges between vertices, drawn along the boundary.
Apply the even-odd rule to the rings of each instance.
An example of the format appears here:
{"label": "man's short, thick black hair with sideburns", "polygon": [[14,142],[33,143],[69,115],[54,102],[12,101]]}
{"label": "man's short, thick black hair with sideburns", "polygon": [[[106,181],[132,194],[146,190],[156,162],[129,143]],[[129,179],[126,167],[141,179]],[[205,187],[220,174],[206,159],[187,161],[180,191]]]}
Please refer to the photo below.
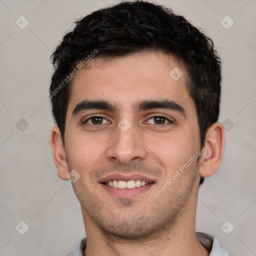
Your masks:
{"label": "man's short, thick black hair with sideburns", "polygon": [[51,55],[55,71],[48,98],[63,143],[72,82],[67,76],[79,61],[95,49],[96,57],[159,50],[175,55],[188,73],[203,147],[207,129],[218,120],[221,91],[221,61],[210,38],[172,9],[139,0],[96,10],[75,23]]}

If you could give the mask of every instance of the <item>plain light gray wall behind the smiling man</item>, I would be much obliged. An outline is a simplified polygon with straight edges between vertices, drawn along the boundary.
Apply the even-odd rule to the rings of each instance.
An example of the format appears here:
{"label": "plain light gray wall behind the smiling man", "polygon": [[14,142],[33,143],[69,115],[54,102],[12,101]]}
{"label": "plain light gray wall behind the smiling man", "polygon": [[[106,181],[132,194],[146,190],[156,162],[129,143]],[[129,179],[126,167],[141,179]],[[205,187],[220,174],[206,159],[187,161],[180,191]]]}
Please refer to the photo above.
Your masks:
{"label": "plain light gray wall behind the smiling man", "polygon": [[[85,235],[79,203],[70,181],[58,178],[49,145],[49,56],[73,21],[117,2],[0,0],[2,256],[63,255]],[[230,255],[256,255],[256,0],[155,2],[203,28],[223,63],[219,121],[225,120],[225,152],[216,174],[200,188],[196,230],[218,237]],[[25,24],[21,15],[29,21],[24,29],[15,23]],[[223,19],[227,15],[234,21],[229,29],[223,26],[232,22]],[[18,232],[24,224],[15,228],[21,220],[29,226],[24,234]]]}

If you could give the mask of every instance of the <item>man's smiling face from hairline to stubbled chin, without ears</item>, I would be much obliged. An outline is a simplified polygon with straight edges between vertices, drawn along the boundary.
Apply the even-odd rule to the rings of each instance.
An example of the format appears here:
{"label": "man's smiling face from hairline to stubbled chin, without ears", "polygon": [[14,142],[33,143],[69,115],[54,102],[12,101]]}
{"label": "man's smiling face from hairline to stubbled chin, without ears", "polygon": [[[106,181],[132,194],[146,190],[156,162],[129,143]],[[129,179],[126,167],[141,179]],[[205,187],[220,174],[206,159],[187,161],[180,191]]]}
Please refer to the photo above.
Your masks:
{"label": "man's smiling face from hairline to stubbled chin, without ears", "polygon": [[[174,67],[178,79],[180,71],[169,75]],[[173,226],[190,207],[200,144],[186,79],[174,57],[155,52],[95,58],[75,75],[65,152],[69,171],[80,175],[72,185],[85,223],[145,237]]]}

